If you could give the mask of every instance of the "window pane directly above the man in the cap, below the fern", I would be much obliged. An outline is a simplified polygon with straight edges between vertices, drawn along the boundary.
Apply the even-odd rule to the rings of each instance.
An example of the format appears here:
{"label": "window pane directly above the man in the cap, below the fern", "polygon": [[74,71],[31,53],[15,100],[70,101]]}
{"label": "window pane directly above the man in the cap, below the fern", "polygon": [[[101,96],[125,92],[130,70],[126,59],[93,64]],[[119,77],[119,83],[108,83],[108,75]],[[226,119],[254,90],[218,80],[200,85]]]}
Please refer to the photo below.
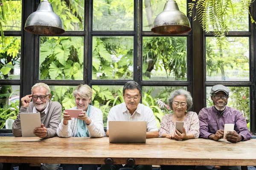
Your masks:
{"label": "window pane directly above the man in the cap, below the fern", "polygon": [[249,81],[249,37],[227,37],[221,48],[206,37],[207,81]]}

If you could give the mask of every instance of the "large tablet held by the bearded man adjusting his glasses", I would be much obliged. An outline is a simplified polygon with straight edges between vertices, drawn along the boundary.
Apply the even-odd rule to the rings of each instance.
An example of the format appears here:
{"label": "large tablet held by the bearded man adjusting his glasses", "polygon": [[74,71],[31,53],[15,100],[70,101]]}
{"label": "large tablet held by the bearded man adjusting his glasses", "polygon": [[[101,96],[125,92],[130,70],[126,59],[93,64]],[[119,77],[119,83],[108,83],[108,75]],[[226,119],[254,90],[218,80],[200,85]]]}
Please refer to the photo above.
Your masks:
{"label": "large tablet held by the bearded man adjusting his glasses", "polygon": [[22,137],[35,137],[34,129],[41,127],[40,113],[20,113],[20,125]]}

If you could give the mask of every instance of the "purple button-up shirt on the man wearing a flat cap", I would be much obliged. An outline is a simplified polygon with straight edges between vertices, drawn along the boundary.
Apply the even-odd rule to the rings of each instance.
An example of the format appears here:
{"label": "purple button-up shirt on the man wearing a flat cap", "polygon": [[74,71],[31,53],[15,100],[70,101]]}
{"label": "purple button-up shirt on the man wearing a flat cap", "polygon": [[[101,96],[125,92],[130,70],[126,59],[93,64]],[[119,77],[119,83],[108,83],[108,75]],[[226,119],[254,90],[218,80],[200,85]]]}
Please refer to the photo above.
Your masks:
{"label": "purple button-up shirt on the man wearing a flat cap", "polygon": [[243,141],[251,139],[252,135],[247,128],[247,123],[242,113],[234,108],[226,106],[223,115],[219,116],[214,106],[203,108],[199,114],[200,138],[208,139],[211,134],[218,130],[224,130],[226,123],[233,123],[234,130],[243,136]]}

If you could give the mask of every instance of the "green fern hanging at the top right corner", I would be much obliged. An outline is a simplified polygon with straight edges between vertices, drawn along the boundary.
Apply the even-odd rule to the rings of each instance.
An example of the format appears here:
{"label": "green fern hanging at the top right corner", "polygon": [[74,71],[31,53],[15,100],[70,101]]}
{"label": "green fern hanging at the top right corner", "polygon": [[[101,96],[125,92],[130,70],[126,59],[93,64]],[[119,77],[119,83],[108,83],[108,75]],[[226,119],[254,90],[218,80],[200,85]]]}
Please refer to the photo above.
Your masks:
{"label": "green fern hanging at the top right corner", "polygon": [[[225,38],[225,32],[228,33],[229,28],[227,26],[227,20],[230,19],[228,11],[231,11],[233,15],[234,3],[241,3],[240,11],[248,11],[250,14],[251,0],[192,0],[189,3],[189,16],[192,16],[192,11],[196,9],[196,15],[194,20],[199,20],[201,27],[204,31],[213,31],[213,35],[217,37],[219,44],[221,40]],[[252,23],[256,23],[250,14],[250,20]],[[212,26],[211,30],[209,26]]]}

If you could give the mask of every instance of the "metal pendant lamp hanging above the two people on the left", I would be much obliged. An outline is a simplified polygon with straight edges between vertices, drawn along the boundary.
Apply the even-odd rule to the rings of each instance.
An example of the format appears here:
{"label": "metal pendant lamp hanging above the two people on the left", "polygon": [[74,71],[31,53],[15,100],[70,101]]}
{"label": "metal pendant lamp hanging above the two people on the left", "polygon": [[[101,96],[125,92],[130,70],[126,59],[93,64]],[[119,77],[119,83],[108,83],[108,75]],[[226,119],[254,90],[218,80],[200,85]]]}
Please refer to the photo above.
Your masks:
{"label": "metal pendant lamp hanging above the two people on the left", "polygon": [[43,0],[37,11],[29,15],[24,30],[40,35],[60,35],[65,32],[61,18],[53,12],[48,0]]}

